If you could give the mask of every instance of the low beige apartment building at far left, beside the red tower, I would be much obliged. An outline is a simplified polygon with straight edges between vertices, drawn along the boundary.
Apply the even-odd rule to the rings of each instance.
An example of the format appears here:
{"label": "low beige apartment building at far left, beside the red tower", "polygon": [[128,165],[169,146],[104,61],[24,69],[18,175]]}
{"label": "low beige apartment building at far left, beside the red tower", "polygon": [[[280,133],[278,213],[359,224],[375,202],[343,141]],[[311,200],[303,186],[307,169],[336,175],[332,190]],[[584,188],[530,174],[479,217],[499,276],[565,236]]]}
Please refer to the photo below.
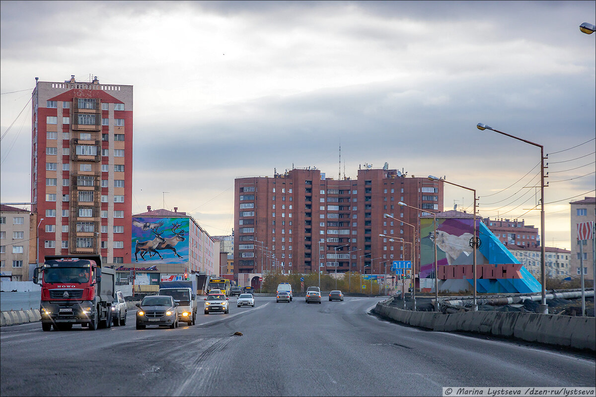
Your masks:
{"label": "low beige apartment building at far left, beside the red tower", "polygon": [[29,281],[29,263],[35,263],[35,215],[0,205],[0,279]]}

